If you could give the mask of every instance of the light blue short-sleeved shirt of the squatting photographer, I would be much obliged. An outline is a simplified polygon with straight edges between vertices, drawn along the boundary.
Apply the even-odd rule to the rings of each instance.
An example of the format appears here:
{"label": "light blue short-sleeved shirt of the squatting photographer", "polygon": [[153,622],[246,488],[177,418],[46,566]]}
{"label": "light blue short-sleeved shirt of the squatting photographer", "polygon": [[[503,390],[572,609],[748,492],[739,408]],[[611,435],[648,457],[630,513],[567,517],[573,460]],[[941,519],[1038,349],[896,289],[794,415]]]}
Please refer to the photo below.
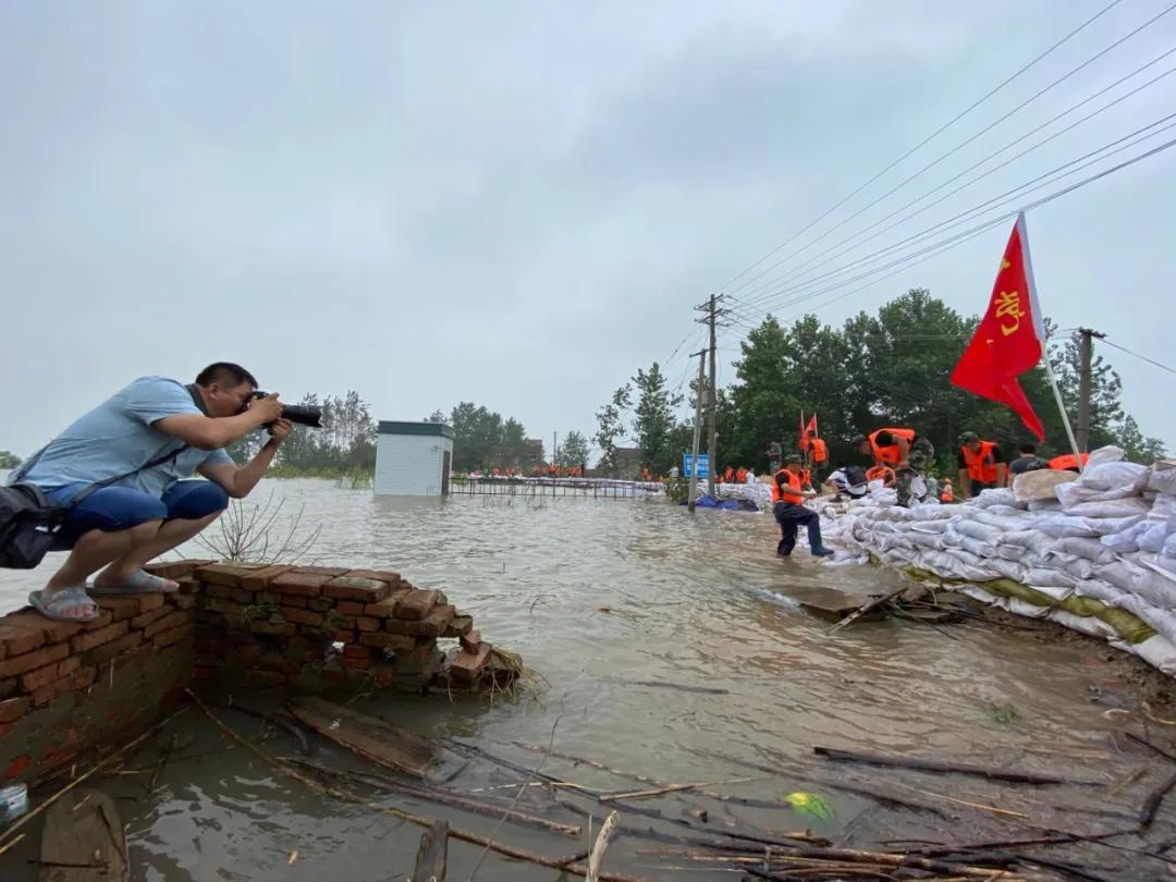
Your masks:
{"label": "light blue short-sleeved shirt of the squatting photographer", "polygon": [[[166,376],[141,376],[53,439],[21,480],[52,492],[133,472],[183,447],[180,439],[156,429],[155,422],[165,416],[199,413],[183,383]],[[206,463],[232,462],[223,449],[189,447],[175,460],[114,486],[133,487],[158,497]]]}

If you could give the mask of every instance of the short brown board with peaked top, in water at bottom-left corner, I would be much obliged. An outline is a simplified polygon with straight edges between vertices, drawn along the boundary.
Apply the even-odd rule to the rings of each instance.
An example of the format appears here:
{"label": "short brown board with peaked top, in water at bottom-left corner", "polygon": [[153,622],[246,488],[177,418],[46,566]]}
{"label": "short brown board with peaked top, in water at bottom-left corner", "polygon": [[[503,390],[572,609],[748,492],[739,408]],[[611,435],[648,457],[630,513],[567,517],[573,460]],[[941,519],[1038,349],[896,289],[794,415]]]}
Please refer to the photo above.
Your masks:
{"label": "short brown board with peaked top, in water at bottom-left corner", "polygon": [[114,801],[78,787],[45,813],[38,882],[127,882],[127,840]]}

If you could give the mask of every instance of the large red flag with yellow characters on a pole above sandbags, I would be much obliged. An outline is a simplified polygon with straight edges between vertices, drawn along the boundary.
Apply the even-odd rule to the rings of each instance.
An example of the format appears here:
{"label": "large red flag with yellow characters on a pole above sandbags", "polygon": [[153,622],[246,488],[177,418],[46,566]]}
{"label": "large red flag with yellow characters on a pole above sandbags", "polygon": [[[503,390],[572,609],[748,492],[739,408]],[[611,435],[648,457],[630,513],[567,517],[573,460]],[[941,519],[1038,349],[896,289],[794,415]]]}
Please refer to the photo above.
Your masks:
{"label": "large red flag with yellow characters on a pole above sandbags", "polygon": [[951,383],[1008,405],[1025,428],[1043,441],[1045,430],[1017,376],[1037,366],[1044,341],[1045,327],[1029,262],[1025,216],[1018,214],[996,270],[988,312],[951,372]]}

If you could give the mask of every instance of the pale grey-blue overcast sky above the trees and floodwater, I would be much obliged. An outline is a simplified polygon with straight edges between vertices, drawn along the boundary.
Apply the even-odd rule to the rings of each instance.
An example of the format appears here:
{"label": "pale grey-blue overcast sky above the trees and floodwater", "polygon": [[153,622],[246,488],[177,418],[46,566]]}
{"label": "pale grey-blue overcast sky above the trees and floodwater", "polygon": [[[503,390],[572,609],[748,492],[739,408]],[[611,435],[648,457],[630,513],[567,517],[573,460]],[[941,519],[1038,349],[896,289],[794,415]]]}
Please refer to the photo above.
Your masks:
{"label": "pale grey-blue overcast sky above the trees and floodwater", "polygon": [[[0,4],[0,449],[29,453],[135,376],[188,381],[222,359],[286,399],[355,388],[379,419],[465,399],[548,443],[590,434],[612,389],[693,333],[695,303],[1107,2]],[[1123,0],[740,281],[1164,6]],[[728,289],[753,319],[837,323],[911,287],[981,312],[1009,223],[889,278],[821,278],[1176,113],[1172,75],[831,248],[1172,47],[1176,13]],[[1022,201],[1176,136],[1157,129]],[[1176,149],[1030,213],[1060,327],[1176,363],[1174,196]],[[790,269],[813,285],[755,293]],[[674,385],[694,343],[666,367]],[[1102,352],[1143,430],[1176,447],[1172,375]]]}

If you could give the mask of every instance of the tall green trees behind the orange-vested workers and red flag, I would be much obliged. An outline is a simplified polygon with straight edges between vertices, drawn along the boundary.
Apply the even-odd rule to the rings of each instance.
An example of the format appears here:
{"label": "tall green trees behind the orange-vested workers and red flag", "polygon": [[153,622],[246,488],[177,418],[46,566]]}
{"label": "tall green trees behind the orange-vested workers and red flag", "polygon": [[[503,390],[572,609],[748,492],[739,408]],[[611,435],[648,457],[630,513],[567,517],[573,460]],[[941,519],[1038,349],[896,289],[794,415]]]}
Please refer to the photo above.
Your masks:
{"label": "tall green trees behind the orange-vested workers and red flag", "polygon": [[[978,322],[978,316],[961,315],[926,289],[891,300],[875,315],[861,312],[841,327],[822,325],[815,315],[790,326],[767,316],[740,343],[735,381],[719,390],[720,463],[767,469],[770,441],[780,441],[786,450],[795,448],[801,410],[806,416],[818,415],[834,462],[858,460],[849,440],[884,426],[913,428],[930,439],[938,467],[948,474],[954,473],[963,432],[998,441],[1007,454],[1015,455],[1018,443],[1033,441],[1020,419],[1003,405],[951,386],[948,379]],[[1078,335],[1051,342],[1048,352],[1063,400],[1073,408],[1071,423],[1076,422]],[[1038,367],[1022,375],[1021,385],[1045,426],[1040,452],[1047,456],[1067,452],[1045,370]],[[1118,374],[1096,355],[1090,449],[1115,443],[1140,462],[1163,456],[1163,442],[1144,436],[1123,409],[1121,393]],[[690,422],[674,416],[681,402],[681,395],[667,389],[656,362],[649,370],[639,370],[596,413],[601,467],[615,468],[616,447],[630,428],[642,461],[652,469],[664,473],[679,463],[693,434]]]}

